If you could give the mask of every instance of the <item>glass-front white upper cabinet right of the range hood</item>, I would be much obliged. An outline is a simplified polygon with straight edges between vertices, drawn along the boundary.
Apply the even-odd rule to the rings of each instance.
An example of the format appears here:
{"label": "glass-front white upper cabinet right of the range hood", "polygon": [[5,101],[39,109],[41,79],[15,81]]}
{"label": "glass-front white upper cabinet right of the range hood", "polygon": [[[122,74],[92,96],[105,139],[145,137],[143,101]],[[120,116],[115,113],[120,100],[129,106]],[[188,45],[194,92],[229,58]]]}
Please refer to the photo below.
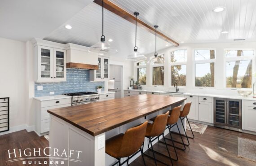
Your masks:
{"label": "glass-front white upper cabinet right of the range hood", "polygon": [[98,56],[98,69],[90,70],[90,81],[104,81],[109,80],[109,58]]}

